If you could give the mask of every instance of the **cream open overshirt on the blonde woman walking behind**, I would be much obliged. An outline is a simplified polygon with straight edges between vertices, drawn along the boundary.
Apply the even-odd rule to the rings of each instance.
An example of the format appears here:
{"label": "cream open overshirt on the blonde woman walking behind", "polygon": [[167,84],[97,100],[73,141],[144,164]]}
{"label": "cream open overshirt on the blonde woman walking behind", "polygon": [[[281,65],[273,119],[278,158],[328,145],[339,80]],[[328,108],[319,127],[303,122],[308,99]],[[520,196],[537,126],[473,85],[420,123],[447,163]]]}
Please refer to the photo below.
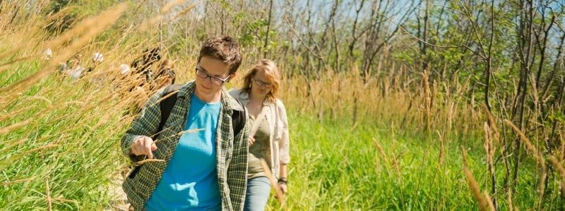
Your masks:
{"label": "cream open overshirt on the blonde woman walking behind", "polygon": [[[232,89],[228,92],[247,106],[249,94],[242,89]],[[283,101],[279,99],[275,103],[264,102],[263,109],[266,109],[265,115],[270,127],[270,163],[272,164],[270,171],[273,172],[273,176],[279,178],[280,164],[290,162],[287,110]],[[278,162],[275,162],[277,160]]]}

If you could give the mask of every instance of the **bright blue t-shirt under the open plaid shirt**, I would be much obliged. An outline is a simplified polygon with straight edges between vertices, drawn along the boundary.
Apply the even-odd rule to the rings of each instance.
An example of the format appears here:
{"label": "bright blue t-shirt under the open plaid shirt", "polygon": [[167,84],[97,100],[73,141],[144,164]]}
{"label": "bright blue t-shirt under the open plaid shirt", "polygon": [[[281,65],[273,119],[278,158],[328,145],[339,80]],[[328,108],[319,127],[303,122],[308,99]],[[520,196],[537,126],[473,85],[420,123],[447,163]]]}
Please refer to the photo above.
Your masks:
{"label": "bright blue t-shirt under the open plaid shirt", "polygon": [[221,210],[216,170],[215,137],[221,103],[206,103],[192,95],[184,129],[146,210]]}

